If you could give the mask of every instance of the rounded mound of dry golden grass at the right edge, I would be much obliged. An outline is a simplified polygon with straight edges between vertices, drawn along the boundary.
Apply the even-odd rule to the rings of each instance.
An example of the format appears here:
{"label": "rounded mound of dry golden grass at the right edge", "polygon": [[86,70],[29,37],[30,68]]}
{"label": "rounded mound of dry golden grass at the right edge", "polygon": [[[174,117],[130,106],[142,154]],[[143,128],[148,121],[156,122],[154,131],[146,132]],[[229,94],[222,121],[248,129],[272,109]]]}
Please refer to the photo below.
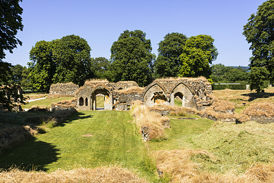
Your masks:
{"label": "rounded mound of dry golden grass at the right edge", "polygon": [[252,103],[249,107],[245,108],[242,113],[247,114],[249,117],[273,117],[274,103],[271,101]]}

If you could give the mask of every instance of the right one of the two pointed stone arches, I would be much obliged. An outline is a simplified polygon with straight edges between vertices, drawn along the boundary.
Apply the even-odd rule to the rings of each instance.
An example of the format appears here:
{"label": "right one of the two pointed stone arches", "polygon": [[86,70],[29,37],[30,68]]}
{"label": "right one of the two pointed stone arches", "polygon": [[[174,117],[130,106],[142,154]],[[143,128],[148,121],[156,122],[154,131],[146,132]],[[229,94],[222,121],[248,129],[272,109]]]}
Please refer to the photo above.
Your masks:
{"label": "right one of the two pointed stone arches", "polygon": [[186,84],[180,82],[177,84],[172,92],[171,92],[171,106],[175,105],[175,97],[180,97],[182,99],[182,107],[187,107],[187,108],[196,108],[194,99],[193,99],[193,94],[191,90],[186,86]]}

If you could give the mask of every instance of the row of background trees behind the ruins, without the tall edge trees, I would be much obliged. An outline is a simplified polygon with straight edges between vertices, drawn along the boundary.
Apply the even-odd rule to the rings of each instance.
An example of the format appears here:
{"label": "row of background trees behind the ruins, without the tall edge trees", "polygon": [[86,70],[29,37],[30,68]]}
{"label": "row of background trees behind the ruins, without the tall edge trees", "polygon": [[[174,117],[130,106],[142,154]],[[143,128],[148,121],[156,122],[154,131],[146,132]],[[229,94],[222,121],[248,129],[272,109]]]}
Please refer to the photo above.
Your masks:
{"label": "row of background trees behind the ruins, without the tall edge trees", "polygon": [[73,82],[82,86],[90,78],[110,82],[130,80],[140,86],[158,77],[203,75],[212,82],[246,80],[246,71],[240,67],[210,66],[218,55],[211,36],[187,38],[179,33],[166,34],[159,43],[157,58],[151,53],[151,41],[145,36],[140,30],[125,30],[113,43],[110,59],[91,58],[88,42],[79,36],[38,41],[29,52],[28,68],[19,64],[11,67],[10,83],[48,92],[51,84]]}

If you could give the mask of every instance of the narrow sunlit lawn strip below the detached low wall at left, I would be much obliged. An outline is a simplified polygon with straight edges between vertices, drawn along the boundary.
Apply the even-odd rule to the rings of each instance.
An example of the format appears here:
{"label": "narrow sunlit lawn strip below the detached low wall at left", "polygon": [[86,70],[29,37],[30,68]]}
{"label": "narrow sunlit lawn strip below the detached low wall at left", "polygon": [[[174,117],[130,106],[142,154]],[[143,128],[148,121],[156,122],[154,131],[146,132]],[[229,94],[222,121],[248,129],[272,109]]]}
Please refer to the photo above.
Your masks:
{"label": "narrow sunlit lawn strip below the detached low wall at left", "polygon": [[53,98],[47,98],[47,99],[40,99],[37,101],[31,101],[23,105],[22,108],[32,108],[32,106],[42,106],[42,107],[51,108],[51,103],[57,103],[59,101],[70,100],[73,98],[74,97],[53,97]]}

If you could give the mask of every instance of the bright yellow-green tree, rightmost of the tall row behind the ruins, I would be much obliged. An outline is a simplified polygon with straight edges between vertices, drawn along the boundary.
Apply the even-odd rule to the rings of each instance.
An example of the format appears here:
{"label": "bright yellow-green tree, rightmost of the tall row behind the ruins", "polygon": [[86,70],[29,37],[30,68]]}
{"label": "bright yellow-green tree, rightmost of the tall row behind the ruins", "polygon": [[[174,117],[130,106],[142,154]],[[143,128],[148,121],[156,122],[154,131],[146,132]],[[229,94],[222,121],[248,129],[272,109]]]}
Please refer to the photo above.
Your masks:
{"label": "bright yellow-green tree, rightmost of the tall row behind the ruins", "polygon": [[182,62],[180,77],[210,77],[210,64],[218,56],[213,42],[214,39],[208,35],[192,36],[186,40],[183,53],[179,56]]}

